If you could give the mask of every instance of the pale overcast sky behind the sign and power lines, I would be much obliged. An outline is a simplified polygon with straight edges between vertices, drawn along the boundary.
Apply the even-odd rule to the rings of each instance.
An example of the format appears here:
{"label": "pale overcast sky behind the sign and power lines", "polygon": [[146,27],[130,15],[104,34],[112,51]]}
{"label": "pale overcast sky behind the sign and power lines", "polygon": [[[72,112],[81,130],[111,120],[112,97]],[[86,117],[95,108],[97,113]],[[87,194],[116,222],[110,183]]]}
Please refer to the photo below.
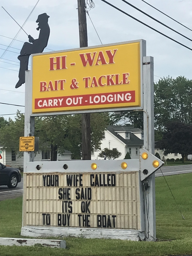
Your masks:
{"label": "pale overcast sky behind the sign and power lines", "polygon": [[[137,10],[123,3],[121,0],[108,0],[125,12],[133,15],[139,20],[147,23],[155,29],[165,33],[169,37],[174,38],[180,43],[192,48],[192,42],[184,37],[176,34],[173,31],[165,28],[159,23],[146,17]],[[161,22],[174,28],[185,36],[192,38],[192,31],[184,28],[178,23],[170,20],[165,15],[151,8],[141,0],[127,0],[133,5],[142,9],[146,13],[154,16]],[[145,0],[156,8],[165,12],[172,18],[178,20],[185,26],[192,29],[192,1],[191,0]],[[37,0],[0,0],[3,6],[14,19],[22,25],[31,10],[37,3]],[[157,32],[138,23],[132,18],[122,14],[118,10],[110,7],[101,0],[94,0],[95,8],[89,11],[90,17],[94,26],[101,38],[103,44],[117,43],[123,41],[144,39],[147,41],[147,56],[154,57],[154,80],[158,81],[159,77],[171,76],[176,78],[184,76],[192,79],[192,51],[172,42],[170,39],[158,34]],[[34,38],[38,38],[39,31],[37,28],[37,16],[46,12],[49,18],[50,37],[47,48],[51,50],[64,50],[79,47],[79,32],[78,32],[78,14],[77,0],[40,0],[37,7],[31,14],[29,20],[24,26],[27,34]],[[12,41],[9,38],[14,38],[19,31],[19,26],[11,19],[11,17],[0,8],[0,48],[6,49],[7,45]],[[87,17],[88,23],[88,46],[99,45],[99,38]],[[5,36],[5,37],[2,37]],[[17,40],[28,41],[25,32],[21,31]],[[3,46],[3,45],[6,46]],[[9,48],[3,59],[0,59],[0,102],[25,105],[25,84],[20,88],[15,89],[18,82],[19,60],[17,59],[20,49],[23,46],[22,42],[14,41],[11,45],[14,48]],[[44,51],[50,51],[45,49]],[[0,49],[0,56],[3,54]],[[7,60],[4,60],[7,59]],[[12,60],[12,61],[10,61]],[[16,62],[14,62],[16,61]],[[7,64],[9,62],[12,64]],[[5,69],[7,68],[7,69]],[[11,70],[9,70],[11,69]],[[8,91],[10,90],[10,91]],[[14,91],[14,92],[12,92]],[[10,106],[0,104],[0,116],[4,114],[14,114],[17,109],[24,112],[24,107]],[[4,115],[3,117],[11,117],[14,115]]]}

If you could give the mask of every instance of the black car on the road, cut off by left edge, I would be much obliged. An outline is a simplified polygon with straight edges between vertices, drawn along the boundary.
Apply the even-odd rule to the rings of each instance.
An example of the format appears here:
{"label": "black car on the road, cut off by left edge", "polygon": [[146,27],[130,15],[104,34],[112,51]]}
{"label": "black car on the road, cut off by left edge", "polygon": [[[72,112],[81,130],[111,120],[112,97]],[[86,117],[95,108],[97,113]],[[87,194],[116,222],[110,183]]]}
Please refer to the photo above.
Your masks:
{"label": "black car on the road, cut off by left edge", "polygon": [[20,170],[13,167],[7,167],[0,163],[0,186],[7,185],[9,188],[16,188],[21,181]]}

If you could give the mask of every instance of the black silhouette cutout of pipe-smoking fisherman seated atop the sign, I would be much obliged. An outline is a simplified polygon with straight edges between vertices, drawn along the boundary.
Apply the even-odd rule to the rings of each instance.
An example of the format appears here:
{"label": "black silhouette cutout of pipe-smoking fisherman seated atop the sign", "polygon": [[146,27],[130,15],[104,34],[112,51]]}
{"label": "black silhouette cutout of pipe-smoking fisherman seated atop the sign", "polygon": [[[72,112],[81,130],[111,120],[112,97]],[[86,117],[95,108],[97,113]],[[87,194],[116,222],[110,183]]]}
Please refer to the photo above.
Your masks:
{"label": "black silhouette cutout of pipe-smoking fisherman seated atop the sign", "polygon": [[29,35],[29,43],[25,42],[20,51],[20,55],[18,56],[18,60],[20,60],[19,81],[15,88],[18,88],[25,83],[25,71],[28,70],[29,56],[34,53],[42,53],[48,44],[50,34],[48,18],[49,16],[46,13],[38,16],[36,22],[38,22],[37,30],[40,29],[39,38],[34,39]]}

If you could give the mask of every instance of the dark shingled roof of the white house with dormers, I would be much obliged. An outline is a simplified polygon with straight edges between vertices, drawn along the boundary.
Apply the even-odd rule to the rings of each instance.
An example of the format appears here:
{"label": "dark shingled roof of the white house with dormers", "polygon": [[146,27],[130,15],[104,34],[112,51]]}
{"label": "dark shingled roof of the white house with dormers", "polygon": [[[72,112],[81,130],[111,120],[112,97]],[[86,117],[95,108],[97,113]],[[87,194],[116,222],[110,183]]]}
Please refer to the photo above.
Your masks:
{"label": "dark shingled roof of the white house with dormers", "polygon": [[[118,133],[115,132],[117,126],[108,126],[107,130],[110,131],[110,133],[112,133],[113,135],[115,135],[118,139],[120,139],[123,143],[125,143],[127,146],[128,145],[138,145],[141,146],[143,145],[143,139],[139,139],[135,134],[131,133],[130,131],[130,139],[124,139],[121,135],[119,135]],[[121,126],[122,128],[126,127],[126,126]],[[121,131],[123,131],[123,129],[121,128]],[[135,129],[139,129],[139,128],[135,128]],[[140,129],[141,130],[141,129]],[[117,130],[116,130],[117,131]],[[141,130],[142,131],[142,130]]]}

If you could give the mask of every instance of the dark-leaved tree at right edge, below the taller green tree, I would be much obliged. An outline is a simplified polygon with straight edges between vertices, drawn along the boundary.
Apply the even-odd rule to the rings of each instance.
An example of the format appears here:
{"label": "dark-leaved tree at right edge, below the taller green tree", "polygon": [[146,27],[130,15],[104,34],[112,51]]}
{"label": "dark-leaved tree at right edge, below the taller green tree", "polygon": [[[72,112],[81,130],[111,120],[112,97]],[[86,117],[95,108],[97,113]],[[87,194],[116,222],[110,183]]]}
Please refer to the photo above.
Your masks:
{"label": "dark-leaved tree at right edge, below the taller green tree", "polygon": [[192,125],[167,122],[161,145],[166,154],[181,154],[184,162],[184,157],[192,154]]}

